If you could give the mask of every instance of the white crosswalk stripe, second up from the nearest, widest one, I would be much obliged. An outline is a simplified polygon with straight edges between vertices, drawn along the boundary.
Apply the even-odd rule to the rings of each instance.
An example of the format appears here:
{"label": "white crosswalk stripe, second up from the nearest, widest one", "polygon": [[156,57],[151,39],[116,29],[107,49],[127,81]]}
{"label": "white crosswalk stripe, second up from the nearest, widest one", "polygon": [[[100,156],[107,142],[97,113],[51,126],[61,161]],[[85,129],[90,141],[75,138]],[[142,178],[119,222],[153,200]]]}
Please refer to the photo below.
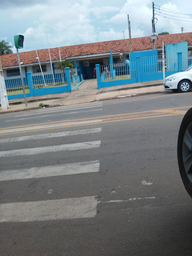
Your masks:
{"label": "white crosswalk stripe, second up from the nearest, widest one", "polygon": [[40,178],[59,175],[71,175],[99,171],[99,161],[85,161],[62,165],[32,167],[0,171],[0,181],[25,178]]}

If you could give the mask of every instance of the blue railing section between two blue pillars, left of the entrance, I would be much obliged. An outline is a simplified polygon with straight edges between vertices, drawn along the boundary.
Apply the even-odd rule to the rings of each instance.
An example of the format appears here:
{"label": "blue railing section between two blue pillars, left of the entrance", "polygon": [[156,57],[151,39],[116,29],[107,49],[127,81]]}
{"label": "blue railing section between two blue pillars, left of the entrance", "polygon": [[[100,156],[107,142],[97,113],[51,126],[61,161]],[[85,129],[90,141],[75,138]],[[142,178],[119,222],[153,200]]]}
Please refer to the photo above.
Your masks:
{"label": "blue railing section between two blue pillars, left of the entrance", "polygon": [[54,70],[53,74],[52,71],[33,73],[32,83],[34,89],[64,86],[67,84],[65,70]]}

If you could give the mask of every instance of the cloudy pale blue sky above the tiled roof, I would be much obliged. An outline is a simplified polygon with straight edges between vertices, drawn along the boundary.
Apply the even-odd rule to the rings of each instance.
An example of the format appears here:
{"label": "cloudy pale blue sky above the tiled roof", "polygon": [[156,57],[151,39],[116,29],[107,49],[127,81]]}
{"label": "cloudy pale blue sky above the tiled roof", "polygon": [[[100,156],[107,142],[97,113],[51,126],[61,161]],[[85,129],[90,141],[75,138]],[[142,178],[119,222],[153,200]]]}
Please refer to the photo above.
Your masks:
{"label": "cloudy pale blue sky above the tiled roof", "polygon": [[[156,33],[180,33],[181,27],[184,32],[192,32],[191,0],[156,0],[154,4],[155,11],[158,6],[161,8],[157,12],[159,15],[168,9],[174,11],[166,12],[174,16],[169,17],[177,15],[181,16],[177,19],[186,17],[189,20],[174,20],[156,14]],[[131,37],[151,34],[152,1],[149,0],[0,0],[0,40],[9,42],[16,52],[13,37],[24,35],[20,52],[128,38],[127,14]]]}

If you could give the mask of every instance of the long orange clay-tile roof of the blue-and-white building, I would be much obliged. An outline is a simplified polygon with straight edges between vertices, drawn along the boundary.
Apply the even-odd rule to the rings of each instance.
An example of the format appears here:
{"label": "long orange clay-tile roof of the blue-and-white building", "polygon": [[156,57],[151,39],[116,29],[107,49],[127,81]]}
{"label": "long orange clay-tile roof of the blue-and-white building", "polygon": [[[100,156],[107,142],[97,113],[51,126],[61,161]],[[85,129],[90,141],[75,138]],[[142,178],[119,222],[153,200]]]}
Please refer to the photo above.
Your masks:
{"label": "long orange clay-tile roof of the blue-and-white building", "polygon": [[[155,47],[162,48],[162,41],[165,44],[187,41],[188,45],[192,45],[192,32],[178,34],[158,35],[155,40]],[[132,38],[132,51],[152,49],[152,40],[150,36]],[[77,44],[60,47],[61,59],[74,56],[85,56],[90,54],[99,54],[110,52],[129,52],[128,39],[93,42],[85,44]],[[49,61],[48,49],[37,50],[40,62]],[[51,60],[59,60],[58,47],[50,48]],[[24,64],[38,63],[36,52],[25,51],[19,53],[20,61]],[[16,53],[5,54],[0,56],[2,67],[17,66],[18,60]]]}

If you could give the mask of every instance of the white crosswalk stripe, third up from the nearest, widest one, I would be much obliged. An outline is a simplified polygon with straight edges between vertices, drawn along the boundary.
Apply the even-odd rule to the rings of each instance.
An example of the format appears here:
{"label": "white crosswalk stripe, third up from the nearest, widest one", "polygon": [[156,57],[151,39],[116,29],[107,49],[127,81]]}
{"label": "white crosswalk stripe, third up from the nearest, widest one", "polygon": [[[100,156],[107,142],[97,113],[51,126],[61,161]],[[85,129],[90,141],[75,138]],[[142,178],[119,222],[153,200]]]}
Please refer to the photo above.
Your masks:
{"label": "white crosswalk stripe, third up from the nearest, widest one", "polygon": [[58,152],[58,151],[66,151],[66,150],[78,150],[78,149],[95,148],[99,146],[100,146],[100,140],[71,143],[71,144],[62,144],[62,145],[56,145],[56,146],[42,146],[42,147],[33,147],[33,148],[24,148],[24,149],[14,149],[14,150],[8,150],[8,151],[0,151],[0,157],[32,155],[32,154],[50,153],[50,152]]}

